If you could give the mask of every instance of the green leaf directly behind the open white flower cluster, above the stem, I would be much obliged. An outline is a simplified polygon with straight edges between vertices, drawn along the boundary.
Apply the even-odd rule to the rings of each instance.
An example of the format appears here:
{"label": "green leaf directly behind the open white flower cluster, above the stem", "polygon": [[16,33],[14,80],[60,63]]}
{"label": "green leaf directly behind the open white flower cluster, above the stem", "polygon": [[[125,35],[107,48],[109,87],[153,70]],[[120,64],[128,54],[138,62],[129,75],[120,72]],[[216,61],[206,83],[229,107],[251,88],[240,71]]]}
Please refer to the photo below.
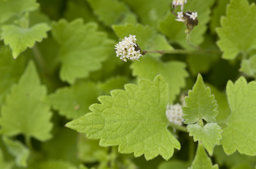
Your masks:
{"label": "green leaf directly behind the open white flower cluster, above the stem", "polygon": [[[113,25],[112,29],[119,37],[124,39],[125,36],[136,35],[136,43],[139,44],[141,51],[144,50],[172,50],[172,46],[168,43],[167,39],[157,33],[149,26],[143,26],[142,24],[130,24],[125,25]],[[153,55],[153,54],[151,54]],[[160,56],[160,54],[154,54],[154,56]]]}

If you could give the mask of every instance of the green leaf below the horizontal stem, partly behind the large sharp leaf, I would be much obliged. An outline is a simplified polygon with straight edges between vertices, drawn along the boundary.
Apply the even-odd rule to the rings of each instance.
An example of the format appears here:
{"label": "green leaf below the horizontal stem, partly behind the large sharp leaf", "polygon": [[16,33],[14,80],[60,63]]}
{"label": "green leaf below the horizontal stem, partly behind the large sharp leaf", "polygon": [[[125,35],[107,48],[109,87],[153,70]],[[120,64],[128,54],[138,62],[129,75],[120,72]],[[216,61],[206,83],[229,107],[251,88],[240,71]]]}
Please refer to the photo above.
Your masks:
{"label": "green leaf below the horizontal stem, partly behind the large sharp leaf", "polygon": [[153,80],[161,74],[169,84],[169,103],[172,104],[181,88],[185,87],[188,73],[186,64],[180,61],[162,62],[151,57],[145,57],[140,62],[131,64],[132,75]]}

